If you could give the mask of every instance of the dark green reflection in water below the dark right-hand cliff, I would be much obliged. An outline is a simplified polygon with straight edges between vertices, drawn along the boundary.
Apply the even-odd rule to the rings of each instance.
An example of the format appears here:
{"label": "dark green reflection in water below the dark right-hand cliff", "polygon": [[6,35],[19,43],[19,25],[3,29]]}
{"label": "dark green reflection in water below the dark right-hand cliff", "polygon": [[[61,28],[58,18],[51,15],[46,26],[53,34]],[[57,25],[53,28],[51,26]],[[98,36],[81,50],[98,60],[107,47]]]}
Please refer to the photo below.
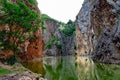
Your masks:
{"label": "dark green reflection in water below the dark right-hand cliff", "polygon": [[120,80],[120,65],[96,63],[96,80]]}

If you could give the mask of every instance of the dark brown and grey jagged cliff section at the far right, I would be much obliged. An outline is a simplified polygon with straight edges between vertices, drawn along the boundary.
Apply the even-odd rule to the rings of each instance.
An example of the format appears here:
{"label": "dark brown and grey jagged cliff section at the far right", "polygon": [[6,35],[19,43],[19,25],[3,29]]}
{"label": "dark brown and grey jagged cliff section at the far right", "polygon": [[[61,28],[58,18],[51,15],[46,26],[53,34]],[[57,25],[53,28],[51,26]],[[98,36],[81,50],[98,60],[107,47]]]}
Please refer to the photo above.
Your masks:
{"label": "dark brown and grey jagged cliff section at the far right", "polygon": [[94,59],[107,62],[119,59],[119,0],[98,0],[94,3],[91,10],[91,26],[97,42],[97,45],[94,44]]}

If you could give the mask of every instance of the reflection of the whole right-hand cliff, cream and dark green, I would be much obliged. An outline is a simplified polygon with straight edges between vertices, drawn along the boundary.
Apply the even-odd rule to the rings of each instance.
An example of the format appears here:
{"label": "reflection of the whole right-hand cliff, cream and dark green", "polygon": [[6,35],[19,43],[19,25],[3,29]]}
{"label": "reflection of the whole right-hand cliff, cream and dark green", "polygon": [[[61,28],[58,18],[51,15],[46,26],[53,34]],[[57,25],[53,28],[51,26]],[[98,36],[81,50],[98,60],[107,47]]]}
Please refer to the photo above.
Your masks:
{"label": "reflection of the whole right-hand cliff, cream and dark green", "polygon": [[120,66],[94,63],[89,57],[77,57],[78,80],[120,80]]}

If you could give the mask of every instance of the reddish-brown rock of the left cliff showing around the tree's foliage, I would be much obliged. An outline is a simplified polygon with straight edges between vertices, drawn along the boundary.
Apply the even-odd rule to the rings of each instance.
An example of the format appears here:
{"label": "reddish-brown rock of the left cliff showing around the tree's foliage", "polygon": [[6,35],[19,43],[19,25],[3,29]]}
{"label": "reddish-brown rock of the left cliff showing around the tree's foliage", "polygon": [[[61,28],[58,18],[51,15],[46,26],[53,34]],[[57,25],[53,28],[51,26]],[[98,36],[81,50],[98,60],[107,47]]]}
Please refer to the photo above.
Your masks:
{"label": "reddish-brown rock of the left cliff showing around the tree's foliage", "polygon": [[[17,4],[17,2],[18,2],[18,0],[9,0],[9,1],[12,4]],[[27,0],[23,0],[21,2],[23,2],[25,6],[30,8],[30,10],[33,11],[33,14],[37,13],[38,17],[40,16],[40,11],[39,11],[39,9],[37,7],[36,0],[34,0],[34,2],[29,2]],[[0,17],[4,17],[3,16],[4,14],[6,14],[6,13],[2,12],[2,14],[0,14]],[[24,15],[21,15],[21,17],[22,16],[24,17]],[[32,17],[34,17],[34,16],[32,16]],[[32,21],[31,23],[28,23],[28,24],[31,24],[32,26],[34,26],[37,23],[35,21]],[[35,32],[34,31],[33,32],[32,31],[27,32],[27,30],[24,30],[23,27],[21,27],[19,24],[17,25],[15,23],[14,26],[12,27],[12,29],[11,29],[11,27],[9,25],[13,25],[13,24],[1,24],[0,31],[6,30],[6,32],[9,32],[11,30],[11,31],[13,31],[13,33],[15,31],[21,31],[21,33],[19,33],[19,35],[21,35],[21,36],[24,35],[26,37],[26,39],[24,41],[22,41],[22,43],[21,43],[20,40],[18,40],[14,36],[11,36],[10,38],[4,36],[3,37],[4,40],[10,41],[10,43],[14,43],[19,48],[19,51],[15,51],[15,50],[13,50],[11,48],[10,48],[10,50],[9,49],[5,50],[5,49],[2,49],[4,47],[0,47],[0,49],[3,50],[2,52],[4,53],[5,56],[6,56],[7,53],[12,51],[13,53],[15,53],[15,55],[21,61],[28,61],[28,60],[32,60],[34,58],[38,58],[38,57],[40,57],[42,55],[42,52],[43,52],[43,49],[44,49],[44,42],[43,42],[42,31],[41,31],[40,26],[39,26],[38,30],[35,31]],[[7,26],[7,28],[5,26]],[[16,28],[16,26],[17,26],[17,28]],[[31,27],[31,26],[29,26],[29,27]],[[32,39],[32,38],[30,39],[29,35],[33,36],[35,39]]]}

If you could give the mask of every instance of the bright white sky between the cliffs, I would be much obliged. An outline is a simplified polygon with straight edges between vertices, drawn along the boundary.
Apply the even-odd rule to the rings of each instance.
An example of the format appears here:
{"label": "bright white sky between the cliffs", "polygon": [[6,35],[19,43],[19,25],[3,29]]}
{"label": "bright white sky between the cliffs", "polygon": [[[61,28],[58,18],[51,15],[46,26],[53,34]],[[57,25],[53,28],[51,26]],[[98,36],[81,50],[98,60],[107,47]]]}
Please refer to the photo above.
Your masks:
{"label": "bright white sky between the cliffs", "polygon": [[61,21],[75,20],[84,0],[37,0],[43,14]]}

